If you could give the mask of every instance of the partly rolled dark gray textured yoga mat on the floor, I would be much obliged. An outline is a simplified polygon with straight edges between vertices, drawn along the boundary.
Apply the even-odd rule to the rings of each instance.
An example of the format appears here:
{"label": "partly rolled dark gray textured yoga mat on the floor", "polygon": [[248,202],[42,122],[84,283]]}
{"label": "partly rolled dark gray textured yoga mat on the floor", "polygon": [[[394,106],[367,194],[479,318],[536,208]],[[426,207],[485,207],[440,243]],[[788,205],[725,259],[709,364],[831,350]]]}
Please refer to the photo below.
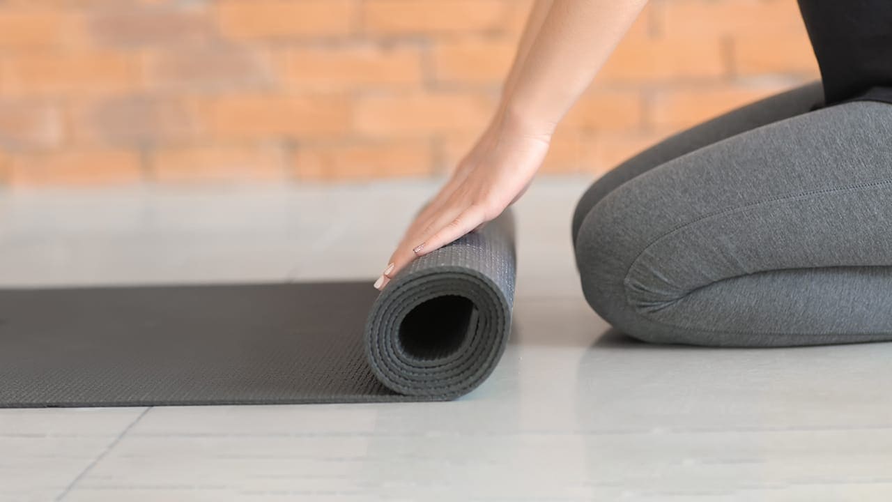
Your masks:
{"label": "partly rolled dark gray textured yoga mat on the floor", "polygon": [[0,290],[0,407],[446,400],[508,340],[514,224],[357,282]]}

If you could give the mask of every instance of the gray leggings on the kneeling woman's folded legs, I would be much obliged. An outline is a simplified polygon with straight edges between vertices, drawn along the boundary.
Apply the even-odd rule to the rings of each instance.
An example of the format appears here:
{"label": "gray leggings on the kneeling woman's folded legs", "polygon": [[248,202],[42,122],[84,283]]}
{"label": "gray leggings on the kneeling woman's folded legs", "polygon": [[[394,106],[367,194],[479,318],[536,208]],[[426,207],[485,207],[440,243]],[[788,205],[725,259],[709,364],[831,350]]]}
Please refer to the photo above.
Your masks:
{"label": "gray leggings on the kneeling woman's folded legs", "polygon": [[608,172],[573,221],[586,300],[654,343],[892,340],[892,105],[815,83]]}

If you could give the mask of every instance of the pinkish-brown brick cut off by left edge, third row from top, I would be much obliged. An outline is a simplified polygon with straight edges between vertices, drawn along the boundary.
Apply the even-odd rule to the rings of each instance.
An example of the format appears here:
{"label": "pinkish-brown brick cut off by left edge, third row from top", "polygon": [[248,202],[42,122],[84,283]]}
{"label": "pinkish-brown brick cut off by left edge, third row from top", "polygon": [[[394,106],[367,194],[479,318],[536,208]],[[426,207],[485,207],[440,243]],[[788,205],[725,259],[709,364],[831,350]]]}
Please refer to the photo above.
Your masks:
{"label": "pinkish-brown brick cut off by left edge, third row from top", "polygon": [[63,137],[62,113],[54,106],[0,103],[0,147],[45,149],[59,146]]}

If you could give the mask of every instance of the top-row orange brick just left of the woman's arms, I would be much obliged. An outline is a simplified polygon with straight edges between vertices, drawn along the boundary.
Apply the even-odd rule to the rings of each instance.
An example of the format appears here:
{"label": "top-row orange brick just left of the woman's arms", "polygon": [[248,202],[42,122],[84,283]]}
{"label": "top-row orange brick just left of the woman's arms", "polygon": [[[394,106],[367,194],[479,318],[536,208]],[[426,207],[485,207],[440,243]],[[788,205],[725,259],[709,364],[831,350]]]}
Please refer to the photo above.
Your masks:
{"label": "top-row orange brick just left of the woman's arms", "polygon": [[506,28],[502,0],[366,0],[364,29],[377,35],[429,35]]}

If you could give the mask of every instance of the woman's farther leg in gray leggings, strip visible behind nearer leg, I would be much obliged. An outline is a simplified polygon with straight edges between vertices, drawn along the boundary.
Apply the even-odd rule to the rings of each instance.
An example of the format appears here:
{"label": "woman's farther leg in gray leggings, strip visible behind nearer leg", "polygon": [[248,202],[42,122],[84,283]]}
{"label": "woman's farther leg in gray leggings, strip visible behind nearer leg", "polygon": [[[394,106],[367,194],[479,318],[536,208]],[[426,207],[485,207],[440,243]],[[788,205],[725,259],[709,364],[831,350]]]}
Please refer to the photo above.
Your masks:
{"label": "woman's farther leg in gray leggings, strip visible behind nearer leg", "polygon": [[682,131],[671,138],[635,155],[607,172],[591,185],[576,205],[573,217],[573,241],[582,225],[582,219],[598,201],[614,188],[638,176],[642,172],[657,167],[681,155],[711,145],[735,134],[753,130],[772,122],[787,119],[794,115],[811,111],[823,104],[821,82],[794,88],[777,96],[771,96],[751,105],[725,113],[711,121],[706,121],[690,130]]}

